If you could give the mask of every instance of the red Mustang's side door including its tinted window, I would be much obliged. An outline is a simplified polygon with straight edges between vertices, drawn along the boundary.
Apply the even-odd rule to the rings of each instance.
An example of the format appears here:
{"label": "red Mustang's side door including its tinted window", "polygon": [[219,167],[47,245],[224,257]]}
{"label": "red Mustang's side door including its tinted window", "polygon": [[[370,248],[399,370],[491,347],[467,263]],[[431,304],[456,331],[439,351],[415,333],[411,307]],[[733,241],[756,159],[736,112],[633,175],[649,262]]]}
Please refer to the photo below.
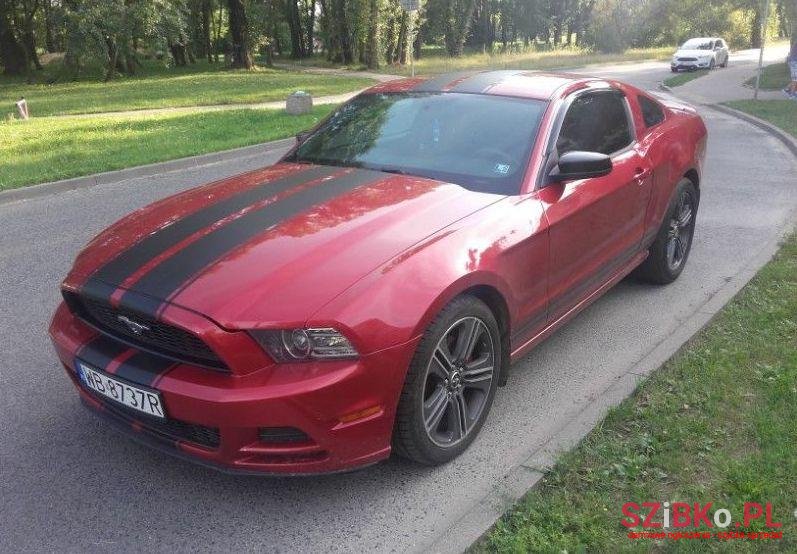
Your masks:
{"label": "red Mustang's side door including its tinted window", "polygon": [[547,171],[569,151],[607,154],[605,176],[539,183],[549,224],[549,320],[564,315],[639,252],[651,170],[636,148],[625,95],[600,89],[574,96],[554,129]]}

